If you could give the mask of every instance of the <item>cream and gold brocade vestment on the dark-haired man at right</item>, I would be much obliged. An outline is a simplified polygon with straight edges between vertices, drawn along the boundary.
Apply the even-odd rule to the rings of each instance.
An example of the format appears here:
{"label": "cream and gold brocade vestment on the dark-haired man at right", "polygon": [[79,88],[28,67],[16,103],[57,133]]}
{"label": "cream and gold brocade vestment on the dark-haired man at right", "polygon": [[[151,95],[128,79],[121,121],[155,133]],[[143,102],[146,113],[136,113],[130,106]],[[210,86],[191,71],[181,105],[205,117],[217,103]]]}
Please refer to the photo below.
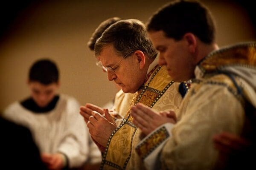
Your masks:
{"label": "cream and gold brocade vestment on the dark-haired man at right", "polygon": [[[233,74],[234,70],[227,69],[231,66],[234,70],[237,69],[234,66],[239,66],[240,70]],[[177,115],[180,121],[169,129],[171,137],[163,148],[157,148],[161,150],[163,170],[214,168],[218,162],[218,151],[213,146],[212,136],[222,131],[241,134],[245,121],[244,99],[256,103],[256,83],[248,82],[256,77],[256,43],[215,51],[198,67],[199,71],[195,71],[197,79],[183,99]],[[242,74],[238,74],[239,71]],[[250,73],[251,77],[245,81]],[[240,88],[243,96],[239,93]],[[157,161],[158,155],[154,156]]]}

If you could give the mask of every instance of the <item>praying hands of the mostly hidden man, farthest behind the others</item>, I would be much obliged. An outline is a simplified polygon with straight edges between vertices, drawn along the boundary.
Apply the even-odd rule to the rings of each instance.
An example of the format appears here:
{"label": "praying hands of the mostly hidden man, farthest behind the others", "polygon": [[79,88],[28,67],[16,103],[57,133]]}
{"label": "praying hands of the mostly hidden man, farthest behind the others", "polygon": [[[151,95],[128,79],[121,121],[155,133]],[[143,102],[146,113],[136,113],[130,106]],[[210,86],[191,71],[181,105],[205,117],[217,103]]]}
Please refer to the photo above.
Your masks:
{"label": "praying hands of the mostly hidden man, farthest behind the others", "polygon": [[87,123],[90,116],[92,116],[92,111],[96,111],[99,114],[104,114],[104,109],[93,105],[91,103],[87,103],[85,106],[80,107],[80,114],[84,117],[84,121]]}

